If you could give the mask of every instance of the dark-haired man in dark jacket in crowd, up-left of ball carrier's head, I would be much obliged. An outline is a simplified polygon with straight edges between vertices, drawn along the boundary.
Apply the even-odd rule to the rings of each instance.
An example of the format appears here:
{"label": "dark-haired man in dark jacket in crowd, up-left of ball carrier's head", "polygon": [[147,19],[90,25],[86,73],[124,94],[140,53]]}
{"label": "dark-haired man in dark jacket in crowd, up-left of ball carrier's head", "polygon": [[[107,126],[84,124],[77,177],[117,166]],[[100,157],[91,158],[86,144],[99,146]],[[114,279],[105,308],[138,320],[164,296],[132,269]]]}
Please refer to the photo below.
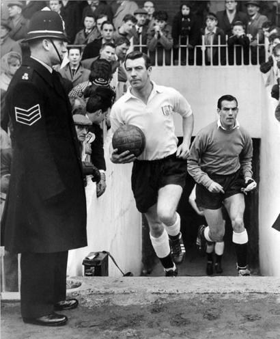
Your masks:
{"label": "dark-haired man in dark jacket in crowd, up-left of ball carrier's head", "polygon": [[102,44],[113,42],[113,32],[113,24],[109,21],[104,21],[101,25],[101,38],[96,39],[85,46],[82,60],[98,57]]}

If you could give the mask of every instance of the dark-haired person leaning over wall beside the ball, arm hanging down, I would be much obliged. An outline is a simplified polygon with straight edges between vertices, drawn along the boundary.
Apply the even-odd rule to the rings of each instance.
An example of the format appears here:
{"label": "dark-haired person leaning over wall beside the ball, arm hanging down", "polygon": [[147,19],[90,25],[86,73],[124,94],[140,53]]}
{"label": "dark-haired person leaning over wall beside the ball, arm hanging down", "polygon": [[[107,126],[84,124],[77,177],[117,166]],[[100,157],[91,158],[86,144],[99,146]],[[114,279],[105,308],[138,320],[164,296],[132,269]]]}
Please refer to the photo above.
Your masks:
{"label": "dark-haired person leaning over wall beside the ball, arm hanging down", "polygon": [[104,159],[103,131],[100,124],[107,117],[108,110],[111,108],[115,99],[115,92],[109,87],[88,87],[86,106],[86,117],[92,122],[89,126],[89,133],[94,133],[95,139],[91,143],[91,162],[99,169],[100,182],[96,184],[96,195],[99,198],[106,189],[106,163]]}

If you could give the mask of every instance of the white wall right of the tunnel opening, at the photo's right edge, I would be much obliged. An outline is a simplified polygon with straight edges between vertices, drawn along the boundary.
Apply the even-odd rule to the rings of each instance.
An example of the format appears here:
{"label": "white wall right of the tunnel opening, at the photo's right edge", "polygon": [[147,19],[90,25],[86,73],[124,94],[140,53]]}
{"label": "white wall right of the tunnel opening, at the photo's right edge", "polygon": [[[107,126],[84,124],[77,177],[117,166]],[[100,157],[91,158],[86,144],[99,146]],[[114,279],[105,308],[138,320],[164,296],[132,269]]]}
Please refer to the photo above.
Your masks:
{"label": "white wall right of the tunnel opening, at the photo's right edge", "polygon": [[262,94],[260,157],[260,269],[262,275],[280,277],[280,232],[271,228],[280,213],[280,123],[271,87]]}

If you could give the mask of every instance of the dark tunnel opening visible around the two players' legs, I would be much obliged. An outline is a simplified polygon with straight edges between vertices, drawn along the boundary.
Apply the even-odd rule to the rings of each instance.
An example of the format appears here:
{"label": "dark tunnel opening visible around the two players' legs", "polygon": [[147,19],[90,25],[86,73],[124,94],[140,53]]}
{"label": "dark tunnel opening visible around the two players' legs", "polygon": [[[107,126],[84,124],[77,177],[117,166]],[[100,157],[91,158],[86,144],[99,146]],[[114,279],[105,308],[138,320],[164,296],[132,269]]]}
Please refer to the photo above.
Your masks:
{"label": "dark tunnel opening visible around the two players' legs", "polygon": [[[179,138],[180,139],[180,138]],[[260,182],[260,139],[253,138],[253,178]],[[197,251],[195,241],[197,239],[197,228],[200,225],[199,216],[188,202],[188,197],[195,185],[191,176],[186,176],[186,186],[178,204],[178,213],[181,217],[181,231],[186,247],[186,258],[179,267],[179,275],[200,276],[206,275],[206,255]],[[259,196],[258,191],[254,191],[245,196],[244,223],[249,235],[249,267],[253,275],[260,275],[259,268]],[[225,213],[225,252],[222,260],[222,275],[236,275],[236,255],[232,244],[232,226],[229,217]],[[150,243],[148,223],[143,216],[143,275],[161,276],[161,267],[158,258],[154,254],[154,249]]]}

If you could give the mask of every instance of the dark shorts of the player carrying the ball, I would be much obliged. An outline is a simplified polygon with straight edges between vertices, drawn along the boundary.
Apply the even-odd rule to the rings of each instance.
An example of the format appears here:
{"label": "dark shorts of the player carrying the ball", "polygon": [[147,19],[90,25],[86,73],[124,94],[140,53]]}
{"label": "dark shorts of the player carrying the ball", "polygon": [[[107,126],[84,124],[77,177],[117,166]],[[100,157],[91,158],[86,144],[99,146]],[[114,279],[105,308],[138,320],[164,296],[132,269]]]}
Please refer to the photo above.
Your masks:
{"label": "dark shorts of the player carrying the ball", "polygon": [[146,213],[158,200],[158,190],[166,185],[180,185],[186,180],[186,159],[176,154],[159,160],[136,160],[132,167],[131,186],[139,212]]}

